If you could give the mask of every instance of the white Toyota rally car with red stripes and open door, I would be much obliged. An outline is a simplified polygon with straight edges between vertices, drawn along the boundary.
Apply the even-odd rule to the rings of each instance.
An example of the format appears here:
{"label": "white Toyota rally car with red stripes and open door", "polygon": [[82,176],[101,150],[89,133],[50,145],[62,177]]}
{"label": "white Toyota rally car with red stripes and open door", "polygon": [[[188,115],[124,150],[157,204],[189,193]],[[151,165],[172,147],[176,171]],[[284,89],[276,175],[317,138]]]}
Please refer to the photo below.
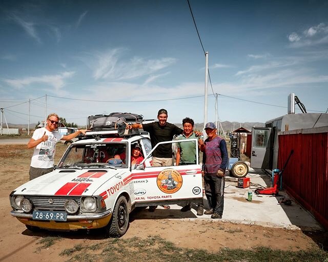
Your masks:
{"label": "white Toyota rally car with red stripes and open door", "polygon": [[[106,228],[109,236],[120,237],[135,207],[202,203],[197,140],[179,141],[196,144],[197,164],[152,167],[151,154],[159,144],[152,149],[147,132],[134,133],[87,132],[69,146],[53,172],[12,191],[11,215],[32,231]],[[136,143],[145,159],[132,168]]]}

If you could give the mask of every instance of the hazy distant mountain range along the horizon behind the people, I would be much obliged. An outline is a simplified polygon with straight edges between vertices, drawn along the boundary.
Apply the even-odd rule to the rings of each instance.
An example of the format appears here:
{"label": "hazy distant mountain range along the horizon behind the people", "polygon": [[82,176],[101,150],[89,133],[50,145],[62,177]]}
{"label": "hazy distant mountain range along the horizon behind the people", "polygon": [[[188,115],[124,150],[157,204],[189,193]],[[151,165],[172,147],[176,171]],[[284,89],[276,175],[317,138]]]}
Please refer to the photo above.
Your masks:
{"label": "hazy distant mountain range along the horizon behind the people", "polygon": [[[181,127],[181,123],[176,123],[175,124],[178,127]],[[30,129],[35,129],[36,123],[30,124]],[[229,121],[223,121],[220,122],[220,128],[221,131],[221,126],[224,132],[231,132],[233,130],[236,130],[240,127],[243,127],[249,131],[252,131],[252,127],[264,127],[264,123],[259,123],[259,122],[244,122],[244,123],[239,123],[239,122],[229,122]],[[4,125],[4,128],[7,126]],[[9,128],[28,128],[27,124],[10,124],[8,123]],[[80,128],[85,128],[85,126],[80,126]],[[203,129],[203,123],[196,123],[195,124],[195,129],[196,130],[202,130]]]}

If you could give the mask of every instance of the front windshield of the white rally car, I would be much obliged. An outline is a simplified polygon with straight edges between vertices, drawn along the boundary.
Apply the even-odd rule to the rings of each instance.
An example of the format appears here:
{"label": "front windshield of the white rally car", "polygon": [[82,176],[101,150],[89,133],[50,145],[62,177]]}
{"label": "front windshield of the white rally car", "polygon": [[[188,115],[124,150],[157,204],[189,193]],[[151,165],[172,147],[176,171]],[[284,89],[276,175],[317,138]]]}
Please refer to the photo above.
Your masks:
{"label": "front windshield of the white rally car", "polygon": [[72,145],[57,168],[125,168],[127,143]]}

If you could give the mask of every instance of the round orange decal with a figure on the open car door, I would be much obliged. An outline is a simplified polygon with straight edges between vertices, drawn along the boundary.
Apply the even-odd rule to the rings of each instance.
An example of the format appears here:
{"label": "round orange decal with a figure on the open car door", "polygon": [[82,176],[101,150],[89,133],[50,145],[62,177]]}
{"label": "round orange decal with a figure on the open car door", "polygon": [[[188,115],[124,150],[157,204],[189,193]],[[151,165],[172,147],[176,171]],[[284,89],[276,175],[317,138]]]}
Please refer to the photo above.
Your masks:
{"label": "round orange decal with a figure on the open car door", "polygon": [[157,176],[157,186],[160,191],[173,194],[181,188],[182,176],[175,169],[164,169]]}

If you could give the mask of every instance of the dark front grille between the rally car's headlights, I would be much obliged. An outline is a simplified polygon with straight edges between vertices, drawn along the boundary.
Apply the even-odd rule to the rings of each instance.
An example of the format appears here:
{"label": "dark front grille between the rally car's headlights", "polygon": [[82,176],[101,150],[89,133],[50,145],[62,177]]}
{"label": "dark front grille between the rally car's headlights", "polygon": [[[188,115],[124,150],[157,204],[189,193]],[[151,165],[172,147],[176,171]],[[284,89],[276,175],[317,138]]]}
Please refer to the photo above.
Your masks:
{"label": "dark front grille between the rally car's headlights", "polygon": [[73,199],[80,205],[79,196],[25,196],[37,209],[65,209],[65,202]]}

